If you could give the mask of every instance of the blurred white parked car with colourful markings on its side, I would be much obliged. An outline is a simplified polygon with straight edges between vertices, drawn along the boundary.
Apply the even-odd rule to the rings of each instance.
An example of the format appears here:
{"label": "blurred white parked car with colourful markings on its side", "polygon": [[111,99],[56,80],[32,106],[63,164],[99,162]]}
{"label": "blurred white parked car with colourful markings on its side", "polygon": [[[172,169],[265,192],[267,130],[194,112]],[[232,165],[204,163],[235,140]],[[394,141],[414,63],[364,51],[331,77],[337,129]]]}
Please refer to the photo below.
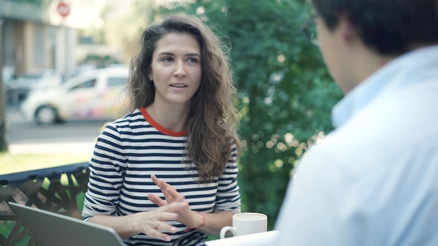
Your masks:
{"label": "blurred white parked car with colourful markings on its side", "polygon": [[125,112],[129,68],[80,73],[62,85],[31,92],[21,105],[27,120],[53,124],[66,120],[114,120]]}

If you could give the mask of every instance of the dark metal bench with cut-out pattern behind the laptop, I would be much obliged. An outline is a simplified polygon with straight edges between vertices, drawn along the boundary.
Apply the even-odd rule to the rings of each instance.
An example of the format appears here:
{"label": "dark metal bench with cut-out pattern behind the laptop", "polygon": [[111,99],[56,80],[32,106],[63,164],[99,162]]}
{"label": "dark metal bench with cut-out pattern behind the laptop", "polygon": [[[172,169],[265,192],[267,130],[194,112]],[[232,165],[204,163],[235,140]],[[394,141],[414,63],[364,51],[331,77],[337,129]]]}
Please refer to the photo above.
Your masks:
{"label": "dark metal bench with cut-out pattern behind the laptop", "polygon": [[10,201],[80,218],[89,173],[79,163],[0,175],[0,245],[35,245]]}

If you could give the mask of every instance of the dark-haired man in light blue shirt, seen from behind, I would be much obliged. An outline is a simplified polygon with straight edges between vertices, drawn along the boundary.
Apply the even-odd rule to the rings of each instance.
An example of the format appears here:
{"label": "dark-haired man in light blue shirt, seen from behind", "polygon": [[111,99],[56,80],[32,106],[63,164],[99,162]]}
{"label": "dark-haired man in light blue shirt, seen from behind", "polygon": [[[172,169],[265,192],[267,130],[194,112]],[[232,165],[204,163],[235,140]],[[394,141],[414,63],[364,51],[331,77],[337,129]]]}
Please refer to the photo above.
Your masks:
{"label": "dark-haired man in light blue shirt, seen from behind", "polygon": [[276,245],[438,245],[438,0],[312,3],[345,96],[295,170]]}

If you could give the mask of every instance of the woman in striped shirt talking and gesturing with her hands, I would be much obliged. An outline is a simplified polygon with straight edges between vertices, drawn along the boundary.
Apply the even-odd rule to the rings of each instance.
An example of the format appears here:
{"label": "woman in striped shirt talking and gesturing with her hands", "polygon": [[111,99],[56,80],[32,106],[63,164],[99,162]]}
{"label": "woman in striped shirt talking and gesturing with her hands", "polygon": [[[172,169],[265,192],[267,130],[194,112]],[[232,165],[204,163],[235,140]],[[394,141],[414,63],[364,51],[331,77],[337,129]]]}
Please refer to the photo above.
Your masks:
{"label": "woman in striped shirt talking and gesturing with her hands", "polygon": [[218,37],[196,17],[167,17],[143,32],[130,72],[132,112],[97,140],[83,219],[127,245],[218,235],[241,205],[236,88]]}

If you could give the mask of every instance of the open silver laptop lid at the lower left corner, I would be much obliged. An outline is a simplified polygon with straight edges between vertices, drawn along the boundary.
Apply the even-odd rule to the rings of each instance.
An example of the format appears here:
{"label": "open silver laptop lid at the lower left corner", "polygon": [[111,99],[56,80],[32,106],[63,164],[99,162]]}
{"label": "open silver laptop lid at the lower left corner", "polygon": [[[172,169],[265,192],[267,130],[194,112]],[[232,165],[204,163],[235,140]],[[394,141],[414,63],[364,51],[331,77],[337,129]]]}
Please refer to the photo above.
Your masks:
{"label": "open silver laptop lid at the lower left corner", "polygon": [[118,233],[108,226],[84,222],[66,215],[9,202],[37,245],[42,246],[125,246]]}

